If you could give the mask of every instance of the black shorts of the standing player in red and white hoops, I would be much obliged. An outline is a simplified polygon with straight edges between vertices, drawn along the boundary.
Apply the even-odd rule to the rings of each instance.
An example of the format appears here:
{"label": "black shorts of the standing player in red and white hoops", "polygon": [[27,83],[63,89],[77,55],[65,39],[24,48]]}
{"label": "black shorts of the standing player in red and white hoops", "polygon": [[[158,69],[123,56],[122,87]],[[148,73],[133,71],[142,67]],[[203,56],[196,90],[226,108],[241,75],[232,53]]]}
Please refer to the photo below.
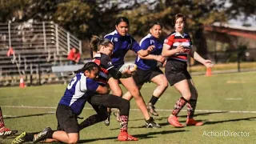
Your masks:
{"label": "black shorts of the standing player in red and white hoops", "polygon": [[174,86],[175,83],[181,82],[184,79],[191,79],[191,76],[186,69],[186,62],[174,59],[167,60],[165,74],[170,86]]}

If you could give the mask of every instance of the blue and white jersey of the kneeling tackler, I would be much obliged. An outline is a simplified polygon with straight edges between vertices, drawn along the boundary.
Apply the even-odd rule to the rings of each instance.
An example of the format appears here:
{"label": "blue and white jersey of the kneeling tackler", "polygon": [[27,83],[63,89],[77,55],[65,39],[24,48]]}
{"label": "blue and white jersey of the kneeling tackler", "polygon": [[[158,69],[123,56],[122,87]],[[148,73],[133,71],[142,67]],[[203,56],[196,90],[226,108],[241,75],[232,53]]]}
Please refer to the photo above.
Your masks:
{"label": "blue and white jersey of the kneeling tackler", "polygon": [[87,98],[94,95],[98,89],[98,83],[86,78],[85,74],[78,73],[66,87],[66,91],[59,104],[70,106],[74,114],[81,114]]}

